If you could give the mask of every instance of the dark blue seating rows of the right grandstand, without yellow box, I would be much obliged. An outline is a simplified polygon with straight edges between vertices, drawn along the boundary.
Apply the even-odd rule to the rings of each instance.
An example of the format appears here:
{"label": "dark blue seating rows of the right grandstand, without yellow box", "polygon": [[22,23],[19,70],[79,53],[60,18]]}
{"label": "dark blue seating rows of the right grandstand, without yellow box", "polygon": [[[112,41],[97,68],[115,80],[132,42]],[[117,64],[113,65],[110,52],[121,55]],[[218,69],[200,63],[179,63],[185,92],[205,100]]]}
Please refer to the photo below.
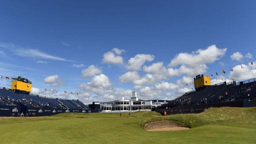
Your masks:
{"label": "dark blue seating rows of the right grandstand, without yellow box", "polygon": [[[225,95],[226,92],[228,94],[227,96]],[[242,83],[223,82],[220,84],[207,86],[207,88],[200,91],[187,92],[165,105],[185,106],[243,99],[250,100],[255,98],[255,96],[256,82],[255,79],[251,79],[243,81]]]}

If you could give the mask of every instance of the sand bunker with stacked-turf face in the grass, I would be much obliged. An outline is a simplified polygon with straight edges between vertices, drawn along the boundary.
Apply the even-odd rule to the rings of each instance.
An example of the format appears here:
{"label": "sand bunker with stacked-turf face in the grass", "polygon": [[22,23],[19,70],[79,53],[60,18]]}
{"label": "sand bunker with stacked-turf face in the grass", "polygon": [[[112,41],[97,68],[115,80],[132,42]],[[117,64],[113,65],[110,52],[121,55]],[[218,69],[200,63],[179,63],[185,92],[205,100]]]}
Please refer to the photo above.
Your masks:
{"label": "sand bunker with stacked-turf face in the grass", "polygon": [[157,121],[146,124],[144,127],[147,131],[171,131],[189,129],[184,124],[174,121]]}

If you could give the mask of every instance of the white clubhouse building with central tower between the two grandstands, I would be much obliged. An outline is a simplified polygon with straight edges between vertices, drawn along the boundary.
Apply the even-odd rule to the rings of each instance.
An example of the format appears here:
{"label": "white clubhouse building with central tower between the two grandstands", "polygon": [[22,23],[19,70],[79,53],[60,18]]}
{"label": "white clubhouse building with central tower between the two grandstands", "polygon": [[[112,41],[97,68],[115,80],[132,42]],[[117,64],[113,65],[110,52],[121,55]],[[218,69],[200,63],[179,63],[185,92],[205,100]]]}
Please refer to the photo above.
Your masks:
{"label": "white clubhouse building with central tower between the two grandstands", "polygon": [[102,112],[109,111],[134,111],[134,110],[152,110],[152,108],[168,103],[165,100],[144,100],[137,97],[137,92],[132,92],[130,100],[114,100],[109,102],[100,102]]}

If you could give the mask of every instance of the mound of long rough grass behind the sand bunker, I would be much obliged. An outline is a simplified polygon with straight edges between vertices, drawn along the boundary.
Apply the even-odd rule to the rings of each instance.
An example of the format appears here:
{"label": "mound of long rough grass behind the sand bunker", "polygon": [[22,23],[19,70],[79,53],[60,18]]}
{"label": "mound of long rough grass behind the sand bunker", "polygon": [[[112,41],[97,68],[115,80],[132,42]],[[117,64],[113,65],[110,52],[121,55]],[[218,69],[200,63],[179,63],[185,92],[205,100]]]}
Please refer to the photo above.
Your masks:
{"label": "mound of long rough grass behind the sand bunker", "polygon": [[199,114],[176,114],[145,119],[141,126],[155,121],[177,121],[191,128],[211,123],[256,124],[256,108],[209,108]]}

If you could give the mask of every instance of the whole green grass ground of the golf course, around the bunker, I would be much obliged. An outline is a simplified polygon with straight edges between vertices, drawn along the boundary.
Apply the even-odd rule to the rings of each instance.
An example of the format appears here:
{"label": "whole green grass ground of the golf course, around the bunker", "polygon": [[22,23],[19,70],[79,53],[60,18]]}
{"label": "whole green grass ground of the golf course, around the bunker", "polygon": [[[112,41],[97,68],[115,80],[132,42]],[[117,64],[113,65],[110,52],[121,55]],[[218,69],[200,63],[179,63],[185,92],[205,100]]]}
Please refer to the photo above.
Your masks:
{"label": "whole green grass ground of the golf course, around the bunker", "polygon": [[[255,143],[256,108],[211,108],[200,114],[160,116],[157,112],[65,113],[35,118],[0,117],[1,144]],[[146,131],[159,120],[189,130]]]}

